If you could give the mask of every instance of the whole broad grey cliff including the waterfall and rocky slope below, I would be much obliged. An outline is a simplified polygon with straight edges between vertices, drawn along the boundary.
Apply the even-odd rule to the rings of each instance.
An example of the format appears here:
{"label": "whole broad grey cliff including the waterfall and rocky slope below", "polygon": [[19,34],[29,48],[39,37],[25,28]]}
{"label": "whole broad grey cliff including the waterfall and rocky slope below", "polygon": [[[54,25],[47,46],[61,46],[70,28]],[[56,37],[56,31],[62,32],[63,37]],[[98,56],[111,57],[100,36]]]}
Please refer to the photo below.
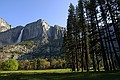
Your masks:
{"label": "whole broad grey cliff including the waterfall and rocky slope below", "polygon": [[1,47],[4,48],[1,53],[24,53],[24,55],[17,55],[16,59],[59,56],[64,31],[65,28],[58,25],[50,26],[42,19],[29,23],[25,27],[12,28],[0,33],[0,46],[12,44],[12,48],[11,46]]}

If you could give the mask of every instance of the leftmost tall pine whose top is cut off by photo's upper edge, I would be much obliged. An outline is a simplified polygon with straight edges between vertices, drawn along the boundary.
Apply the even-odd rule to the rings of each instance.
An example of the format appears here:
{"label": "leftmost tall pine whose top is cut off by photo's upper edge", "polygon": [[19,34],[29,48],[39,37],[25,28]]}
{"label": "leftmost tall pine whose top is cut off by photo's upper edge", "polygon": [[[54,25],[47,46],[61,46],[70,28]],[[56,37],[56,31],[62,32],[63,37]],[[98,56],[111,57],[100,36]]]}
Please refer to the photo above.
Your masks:
{"label": "leftmost tall pine whose top is cut off by photo's upper edge", "polygon": [[[78,1],[78,20],[79,20],[79,27],[81,30],[81,67],[82,72],[84,68],[87,68],[87,71],[89,71],[89,65],[90,65],[90,55],[89,55],[89,33],[88,33],[88,25],[85,21],[85,13],[84,13],[84,1],[79,0]],[[79,34],[80,34],[79,33]]]}

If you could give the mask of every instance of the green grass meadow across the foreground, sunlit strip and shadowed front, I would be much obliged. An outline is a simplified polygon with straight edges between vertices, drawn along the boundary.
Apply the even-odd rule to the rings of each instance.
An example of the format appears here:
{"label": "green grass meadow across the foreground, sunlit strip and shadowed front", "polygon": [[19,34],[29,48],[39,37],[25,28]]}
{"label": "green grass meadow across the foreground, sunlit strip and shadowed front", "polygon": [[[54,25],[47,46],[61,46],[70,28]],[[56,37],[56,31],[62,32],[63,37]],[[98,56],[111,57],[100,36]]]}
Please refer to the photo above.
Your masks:
{"label": "green grass meadow across the foreground, sunlit strip and shadowed front", "polygon": [[120,71],[71,72],[69,69],[0,71],[0,80],[120,80]]}

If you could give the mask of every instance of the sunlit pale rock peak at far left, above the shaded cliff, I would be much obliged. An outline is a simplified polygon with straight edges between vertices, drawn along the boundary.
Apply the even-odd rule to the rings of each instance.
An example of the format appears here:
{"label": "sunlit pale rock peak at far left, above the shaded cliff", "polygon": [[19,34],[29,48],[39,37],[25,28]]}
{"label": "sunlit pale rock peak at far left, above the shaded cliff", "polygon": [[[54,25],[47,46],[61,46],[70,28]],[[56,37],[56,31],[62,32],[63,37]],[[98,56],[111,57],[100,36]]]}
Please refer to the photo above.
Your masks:
{"label": "sunlit pale rock peak at far left, above the shaded cliff", "polygon": [[4,21],[2,18],[0,18],[0,32],[7,31],[11,28],[11,26]]}

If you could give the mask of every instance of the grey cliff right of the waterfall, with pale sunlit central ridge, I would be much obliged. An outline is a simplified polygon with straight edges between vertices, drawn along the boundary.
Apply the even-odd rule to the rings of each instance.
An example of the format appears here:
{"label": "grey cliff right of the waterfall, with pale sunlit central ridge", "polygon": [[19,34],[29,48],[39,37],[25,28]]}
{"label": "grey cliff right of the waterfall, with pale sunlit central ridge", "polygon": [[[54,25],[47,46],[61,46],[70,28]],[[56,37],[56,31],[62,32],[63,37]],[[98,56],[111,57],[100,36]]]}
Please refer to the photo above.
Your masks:
{"label": "grey cliff right of the waterfall, with pale sunlit central ridge", "polygon": [[33,51],[34,56],[37,54],[36,57],[38,57],[38,54],[60,54],[64,30],[63,27],[58,25],[50,26],[40,19],[25,26],[22,41],[37,41],[37,47]]}

